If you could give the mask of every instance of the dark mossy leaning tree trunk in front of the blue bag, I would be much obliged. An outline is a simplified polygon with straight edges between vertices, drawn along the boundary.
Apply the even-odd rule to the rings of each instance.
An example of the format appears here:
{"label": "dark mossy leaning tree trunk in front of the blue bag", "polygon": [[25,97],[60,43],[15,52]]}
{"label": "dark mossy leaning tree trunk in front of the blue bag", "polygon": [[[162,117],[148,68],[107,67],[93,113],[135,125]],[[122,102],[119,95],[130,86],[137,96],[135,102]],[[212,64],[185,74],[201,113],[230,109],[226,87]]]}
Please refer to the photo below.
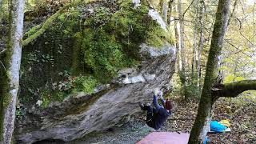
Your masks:
{"label": "dark mossy leaning tree trunk in front of the blue bag", "polygon": [[219,0],[216,13],[214,31],[210,45],[210,52],[206,65],[206,77],[202,88],[201,100],[198,106],[197,118],[190,133],[189,143],[202,143],[210,128],[214,102],[217,98],[212,94],[212,88],[218,75],[218,57],[221,54],[226,26],[229,18],[230,0]]}

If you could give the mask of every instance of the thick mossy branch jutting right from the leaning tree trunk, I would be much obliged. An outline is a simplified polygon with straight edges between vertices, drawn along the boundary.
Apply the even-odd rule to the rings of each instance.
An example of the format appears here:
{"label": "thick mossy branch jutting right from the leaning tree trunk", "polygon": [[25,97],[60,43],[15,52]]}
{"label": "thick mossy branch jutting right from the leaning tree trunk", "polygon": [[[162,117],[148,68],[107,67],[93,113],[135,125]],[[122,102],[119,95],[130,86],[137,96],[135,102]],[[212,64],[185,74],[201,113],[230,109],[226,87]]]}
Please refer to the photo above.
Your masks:
{"label": "thick mossy branch jutting right from the leaning tree trunk", "polygon": [[238,97],[239,94],[246,90],[256,90],[256,79],[227,83],[212,89],[214,95],[229,98]]}

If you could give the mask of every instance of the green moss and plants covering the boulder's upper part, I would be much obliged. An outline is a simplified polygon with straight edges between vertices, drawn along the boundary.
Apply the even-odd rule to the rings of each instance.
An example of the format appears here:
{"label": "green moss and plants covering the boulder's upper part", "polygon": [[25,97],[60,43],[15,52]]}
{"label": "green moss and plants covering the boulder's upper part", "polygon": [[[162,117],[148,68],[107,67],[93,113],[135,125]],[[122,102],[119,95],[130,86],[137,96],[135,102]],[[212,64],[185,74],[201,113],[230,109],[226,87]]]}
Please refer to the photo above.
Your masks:
{"label": "green moss and plants covering the boulder's upper part", "polygon": [[[28,57],[34,51],[30,50],[23,57],[22,89],[26,89],[23,92],[28,95],[25,97],[37,94],[38,89],[45,90],[43,87],[47,87],[44,86],[46,83],[52,85],[54,82],[62,82],[63,76],[59,73],[65,70],[71,73],[70,76],[86,75],[86,78],[81,77],[84,81],[82,86],[83,90],[90,93],[98,83],[110,82],[118,70],[136,66],[140,62],[138,51],[142,42],[156,47],[163,46],[166,42],[172,43],[170,34],[150,18],[148,11],[149,8],[143,1],[138,9],[134,8],[131,1],[118,1],[114,5],[110,5],[110,2],[91,2],[87,5],[85,2],[58,14],[50,29],[38,38],[38,43],[29,45],[35,50],[41,49],[38,51],[44,55],[49,54],[53,61],[42,62],[40,54],[34,54],[36,58],[31,60]],[[38,27],[26,34],[33,35],[34,30],[38,30]],[[31,67],[32,70],[25,71]],[[42,79],[34,84],[32,78],[39,73],[42,74]],[[73,92],[82,90],[81,87],[73,89]],[[46,94],[49,91],[46,90]],[[56,98],[48,99],[62,100],[70,93],[72,90],[65,94],[50,94]],[[47,97],[38,95],[38,98]],[[48,99],[44,106],[49,103]]]}

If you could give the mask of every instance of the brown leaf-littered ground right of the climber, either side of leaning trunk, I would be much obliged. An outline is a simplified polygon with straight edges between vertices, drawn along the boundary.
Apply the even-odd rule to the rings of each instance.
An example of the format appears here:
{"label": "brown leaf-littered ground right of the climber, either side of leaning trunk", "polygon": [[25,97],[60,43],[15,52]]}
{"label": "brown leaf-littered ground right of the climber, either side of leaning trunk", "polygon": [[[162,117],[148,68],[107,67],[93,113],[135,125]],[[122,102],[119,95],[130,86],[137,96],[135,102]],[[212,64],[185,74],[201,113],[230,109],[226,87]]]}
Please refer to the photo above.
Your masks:
{"label": "brown leaf-littered ground right of the climber, either side of leaning trunk", "polygon": [[[177,110],[168,119],[166,131],[190,132],[196,116],[196,102],[180,102]],[[220,99],[216,103],[213,120],[230,120],[230,133],[208,134],[210,143],[256,143],[255,98],[241,97]]]}

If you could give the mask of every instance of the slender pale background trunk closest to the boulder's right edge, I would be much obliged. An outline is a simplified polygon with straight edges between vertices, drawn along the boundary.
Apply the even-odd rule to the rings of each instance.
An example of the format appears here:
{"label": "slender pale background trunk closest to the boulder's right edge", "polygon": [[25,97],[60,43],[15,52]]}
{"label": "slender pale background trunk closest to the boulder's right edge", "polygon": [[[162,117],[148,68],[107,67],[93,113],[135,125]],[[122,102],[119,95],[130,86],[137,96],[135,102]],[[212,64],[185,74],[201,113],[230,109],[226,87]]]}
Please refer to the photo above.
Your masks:
{"label": "slender pale background trunk closest to the boulder's right edge", "polygon": [[183,25],[183,15],[182,15],[182,1],[178,0],[178,17],[179,17],[179,42],[180,42],[180,58],[182,60],[182,70],[179,74],[182,87],[186,86],[186,51],[184,47],[184,25]]}

